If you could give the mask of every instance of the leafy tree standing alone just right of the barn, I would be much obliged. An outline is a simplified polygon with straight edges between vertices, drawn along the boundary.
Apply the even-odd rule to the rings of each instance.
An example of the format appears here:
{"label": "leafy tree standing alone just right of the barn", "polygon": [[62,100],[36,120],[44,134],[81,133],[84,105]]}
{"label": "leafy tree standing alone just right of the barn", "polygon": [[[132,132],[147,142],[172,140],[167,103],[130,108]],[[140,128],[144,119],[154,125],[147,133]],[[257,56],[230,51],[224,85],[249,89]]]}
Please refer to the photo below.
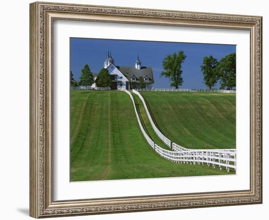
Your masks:
{"label": "leafy tree standing alone just right of the barn", "polygon": [[161,76],[170,78],[171,87],[179,88],[179,86],[182,86],[183,79],[181,77],[181,66],[185,58],[186,55],[184,55],[184,52],[180,50],[178,54],[173,53],[172,55],[167,55],[162,61],[164,71],[160,74]]}

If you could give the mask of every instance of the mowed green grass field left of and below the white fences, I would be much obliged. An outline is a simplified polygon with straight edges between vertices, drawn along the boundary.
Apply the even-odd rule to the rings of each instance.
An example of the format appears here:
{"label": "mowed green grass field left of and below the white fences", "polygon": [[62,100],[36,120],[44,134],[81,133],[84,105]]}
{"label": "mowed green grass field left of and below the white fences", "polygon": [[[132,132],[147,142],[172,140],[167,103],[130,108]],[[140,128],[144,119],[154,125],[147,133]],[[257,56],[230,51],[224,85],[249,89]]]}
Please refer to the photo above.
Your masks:
{"label": "mowed green grass field left of and below the white fences", "polygon": [[127,93],[70,91],[70,181],[227,174],[234,172],[159,156],[143,137]]}

